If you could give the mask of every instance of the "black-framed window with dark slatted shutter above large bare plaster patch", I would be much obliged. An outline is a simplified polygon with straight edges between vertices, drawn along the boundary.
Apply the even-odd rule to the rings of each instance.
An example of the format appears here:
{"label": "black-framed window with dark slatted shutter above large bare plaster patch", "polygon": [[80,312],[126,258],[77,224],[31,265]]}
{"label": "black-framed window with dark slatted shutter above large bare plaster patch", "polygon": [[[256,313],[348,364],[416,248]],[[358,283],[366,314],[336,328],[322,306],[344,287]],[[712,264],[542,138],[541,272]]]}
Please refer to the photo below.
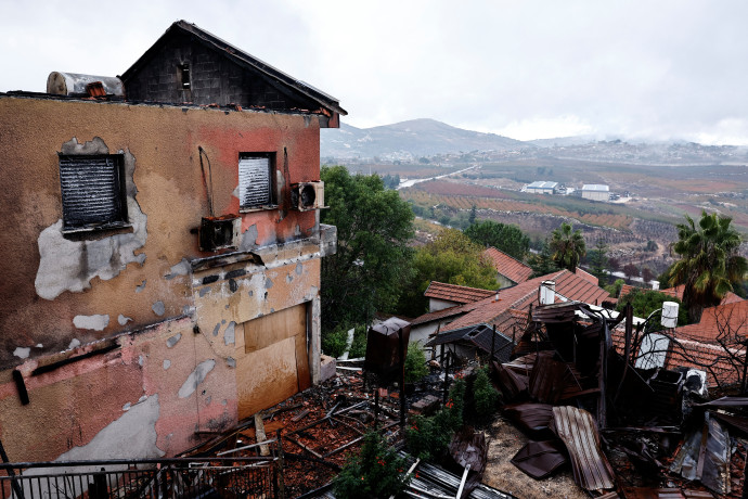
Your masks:
{"label": "black-framed window with dark slatted shutter above large bare plaster patch", "polygon": [[121,154],[60,155],[63,230],[126,227]]}

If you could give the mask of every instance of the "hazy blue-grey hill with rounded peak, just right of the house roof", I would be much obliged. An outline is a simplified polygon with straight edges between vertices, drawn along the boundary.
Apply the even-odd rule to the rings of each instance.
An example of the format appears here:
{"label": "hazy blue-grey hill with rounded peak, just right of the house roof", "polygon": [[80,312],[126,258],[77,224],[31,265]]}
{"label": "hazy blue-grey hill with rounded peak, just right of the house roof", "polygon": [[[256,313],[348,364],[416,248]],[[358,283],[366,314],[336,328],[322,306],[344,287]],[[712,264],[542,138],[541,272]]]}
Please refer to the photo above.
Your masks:
{"label": "hazy blue-grey hill with rounded peak, just right of the house roof", "polygon": [[412,161],[422,156],[470,151],[506,151],[533,144],[479,131],[463,130],[435,119],[412,119],[373,128],[341,124],[320,133],[320,157]]}

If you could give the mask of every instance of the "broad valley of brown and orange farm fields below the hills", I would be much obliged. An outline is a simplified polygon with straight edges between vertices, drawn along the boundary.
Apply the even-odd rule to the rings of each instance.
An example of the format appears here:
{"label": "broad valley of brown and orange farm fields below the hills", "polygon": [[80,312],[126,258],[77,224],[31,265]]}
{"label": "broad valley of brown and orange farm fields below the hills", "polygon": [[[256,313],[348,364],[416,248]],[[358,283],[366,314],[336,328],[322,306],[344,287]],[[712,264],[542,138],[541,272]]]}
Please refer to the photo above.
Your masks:
{"label": "broad valley of brown and orange farm fields below the hills", "polygon": [[[468,155],[469,156],[469,155]],[[369,172],[363,164],[352,171]],[[436,157],[430,164],[372,164],[372,171],[409,179],[431,179],[400,190],[417,216],[423,243],[440,227],[465,228],[476,207],[478,219],[520,227],[538,245],[563,221],[580,229],[590,246],[601,239],[621,264],[646,263],[661,269],[672,261],[669,246],[678,239],[675,225],[684,215],[698,218],[702,209],[732,217],[748,236],[748,168],[740,164],[653,164],[580,161],[536,155],[494,161],[485,157]],[[465,170],[466,168],[469,168]],[[446,174],[449,177],[434,179]],[[626,203],[592,202],[577,196],[536,195],[520,189],[536,180],[580,189],[604,183]],[[426,219],[433,220],[430,225]],[[434,223],[436,222],[436,223]],[[656,252],[647,252],[656,243]],[[746,252],[748,253],[748,252]]]}

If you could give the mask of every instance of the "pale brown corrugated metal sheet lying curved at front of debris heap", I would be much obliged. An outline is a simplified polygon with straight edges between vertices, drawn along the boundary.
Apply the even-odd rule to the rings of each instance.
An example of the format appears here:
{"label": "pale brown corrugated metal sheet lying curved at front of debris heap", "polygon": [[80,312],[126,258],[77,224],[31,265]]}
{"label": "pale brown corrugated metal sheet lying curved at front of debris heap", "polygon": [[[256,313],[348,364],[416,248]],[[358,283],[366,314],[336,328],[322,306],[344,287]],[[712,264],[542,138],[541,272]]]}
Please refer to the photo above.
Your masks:
{"label": "pale brown corrugated metal sheet lying curved at front of debris heap", "polygon": [[615,488],[614,472],[601,450],[595,420],[570,406],[553,408],[556,433],[569,451],[575,482],[586,490]]}

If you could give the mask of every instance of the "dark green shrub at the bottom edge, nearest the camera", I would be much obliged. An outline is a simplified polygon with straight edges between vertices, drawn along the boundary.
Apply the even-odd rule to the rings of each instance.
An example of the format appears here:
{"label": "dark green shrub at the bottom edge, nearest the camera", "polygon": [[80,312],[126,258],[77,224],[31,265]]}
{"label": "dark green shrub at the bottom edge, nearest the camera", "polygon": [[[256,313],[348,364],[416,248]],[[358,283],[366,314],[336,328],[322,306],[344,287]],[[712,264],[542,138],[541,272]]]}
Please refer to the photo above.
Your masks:
{"label": "dark green shrub at the bottom edge, nearest the camera", "polygon": [[333,481],[338,499],[386,498],[401,492],[410,476],[405,460],[378,433],[366,434],[361,452],[353,456]]}

